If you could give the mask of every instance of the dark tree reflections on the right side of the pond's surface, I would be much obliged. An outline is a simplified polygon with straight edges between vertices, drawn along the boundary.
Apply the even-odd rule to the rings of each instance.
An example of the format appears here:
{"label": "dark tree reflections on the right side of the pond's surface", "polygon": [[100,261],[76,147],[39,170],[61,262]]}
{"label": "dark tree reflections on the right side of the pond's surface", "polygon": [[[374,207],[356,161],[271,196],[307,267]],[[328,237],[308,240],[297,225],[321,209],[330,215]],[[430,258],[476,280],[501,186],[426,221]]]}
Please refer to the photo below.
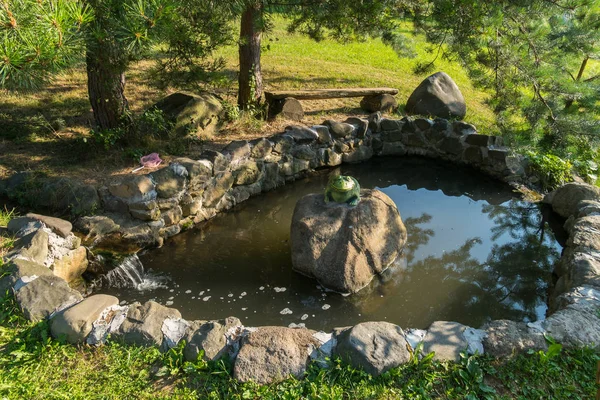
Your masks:
{"label": "dark tree reflections on the right side of the pond's surface", "polygon": [[494,243],[484,262],[471,254],[482,243],[480,238],[467,239],[442,256],[413,262],[415,251],[434,233],[419,226],[429,223],[431,216],[408,218],[405,256],[410,274],[435,276],[439,285],[457,289],[448,299],[450,304],[435,305],[448,317],[462,312],[478,316],[481,322],[498,317],[535,320],[536,307],[545,297],[550,272],[560,256],[552,236],[545,234],[538,206],[512,200],[500,206],[484,205],[482,211],[494,222],[491,240],[506,241]]}

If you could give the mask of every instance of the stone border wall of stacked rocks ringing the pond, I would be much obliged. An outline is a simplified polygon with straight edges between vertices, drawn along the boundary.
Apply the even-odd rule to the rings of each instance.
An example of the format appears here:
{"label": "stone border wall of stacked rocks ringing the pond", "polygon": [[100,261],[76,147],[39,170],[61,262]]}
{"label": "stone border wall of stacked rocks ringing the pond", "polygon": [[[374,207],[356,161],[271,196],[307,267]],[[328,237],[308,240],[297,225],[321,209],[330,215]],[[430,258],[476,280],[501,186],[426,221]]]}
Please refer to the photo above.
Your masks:
{"label": "stone border wall of stacked rocks ringing the pond", "polygon": [[[105,215],[83,217],[77,226],[96,243],[159,245],[194,223],[317,168],[361,162],[373,155],[405,154],[470,164],[507,182],[528,179],[523,158],[510,155],[499,138],[477,134],[472,125],[441,119],[386,120],[374,115],[368,121],[351,118],[312,128],[289,127],[270,138],[232,142],[222,152],[207,152],[199,161],[182,158],[149,175],[118,177],[99,190]],[[178,310],[151,301],[120,306],[113,296],[83,299],[55,275],[57,263],[79,248],[79,243],[70,242],[69,226],[62,224],[59,229],[56,221],[39,216],[14,220],[9,227],[22,242],[7,260],[9,274],[0,280],[0,288],[14,294],[27,318],[48,318],[54,337],[100,344],[111,334],[115,340],[163,350],[185,340],[188,360],[195,360],[201,350],[206,359],[230,354],[235,360],[234,376],[259,383],[289,375],[302,377],[311,360],[324,363],[324,357],[331,355],[377,375],[408,362],[419,344],[424,353],[435,352],[438,360],[454,361],[461,351],[505,357],[543,350],[545,334],[567,346],[597,347],[600,190],[567,184],[545,201],[568,218],[569,239],[556,266],[552,314],[529,324],[496,320],[475,329],[436,321],[427,330],[418,330],[366,322],[315,332],[298,326],[248,328],[235,317],[186,321]],[[62,235],[67,244],[60,244],[65,250],[49,257],[51,240],[44,233],[54,241]]]}

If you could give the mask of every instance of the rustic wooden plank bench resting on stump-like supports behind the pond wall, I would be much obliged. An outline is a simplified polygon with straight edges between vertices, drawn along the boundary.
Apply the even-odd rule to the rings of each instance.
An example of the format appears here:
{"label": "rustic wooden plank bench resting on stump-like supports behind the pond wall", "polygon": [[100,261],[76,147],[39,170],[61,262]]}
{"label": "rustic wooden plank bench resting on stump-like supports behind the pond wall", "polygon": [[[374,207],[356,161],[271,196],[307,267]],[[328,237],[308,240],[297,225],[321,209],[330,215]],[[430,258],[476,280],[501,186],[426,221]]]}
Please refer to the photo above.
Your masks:
{"label": "rustic wooden plank bench resting on stump-like supports behind the pond wall", "polygon": [[[281,90],[264,92],[265,99],[269,106],[269,118],[275,118],[282,115],[285,118],[296,121],[304,118],[304,110],[298,100],[323,100],[338,99],[345,97],[362,97],[360,105],[369,112],[384,111],[371,107],[377,103],[381,95],[398,94],[398,89],[394,88],[348,88],[348,89],[314,89],[314,90]],[[381,107],[393,108],[396,102],[393,98],[387,98],[385,104]],[[393,103],[393,104],[392,104]]]}

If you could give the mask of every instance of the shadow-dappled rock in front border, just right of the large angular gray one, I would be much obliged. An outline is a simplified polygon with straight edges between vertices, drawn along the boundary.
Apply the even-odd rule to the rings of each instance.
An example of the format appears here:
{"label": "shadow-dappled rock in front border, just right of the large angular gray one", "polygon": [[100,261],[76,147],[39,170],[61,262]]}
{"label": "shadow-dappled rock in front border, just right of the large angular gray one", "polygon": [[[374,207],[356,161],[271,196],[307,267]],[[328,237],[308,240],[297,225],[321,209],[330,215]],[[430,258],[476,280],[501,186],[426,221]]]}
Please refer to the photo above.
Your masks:
{"label": "shadow-dappled rock in front border, just right of the large angular gray one", "polygon": [[438,361],[460,361],[460,353],[469,345],[463,335],[466,328],[458,322],[435,321],[427,329],[423,353],[435,352],[433,359]]}

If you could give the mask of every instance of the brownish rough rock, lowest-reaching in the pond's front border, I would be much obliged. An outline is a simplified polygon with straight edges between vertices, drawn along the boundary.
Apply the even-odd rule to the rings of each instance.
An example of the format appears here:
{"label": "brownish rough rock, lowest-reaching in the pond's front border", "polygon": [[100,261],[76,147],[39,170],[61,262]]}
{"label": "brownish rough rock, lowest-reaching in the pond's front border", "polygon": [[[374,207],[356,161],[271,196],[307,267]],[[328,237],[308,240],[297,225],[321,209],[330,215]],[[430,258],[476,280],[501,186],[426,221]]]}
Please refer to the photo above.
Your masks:
{"label": "brownish rough rock, lowest-reaching in the pond's front border", "polygon": [[261,327],[242,339],[233,368],[233,377],[241,382],[268,384],[290,375],[302,378],[309,355],[319,342],[308,329],[281,326]]}

